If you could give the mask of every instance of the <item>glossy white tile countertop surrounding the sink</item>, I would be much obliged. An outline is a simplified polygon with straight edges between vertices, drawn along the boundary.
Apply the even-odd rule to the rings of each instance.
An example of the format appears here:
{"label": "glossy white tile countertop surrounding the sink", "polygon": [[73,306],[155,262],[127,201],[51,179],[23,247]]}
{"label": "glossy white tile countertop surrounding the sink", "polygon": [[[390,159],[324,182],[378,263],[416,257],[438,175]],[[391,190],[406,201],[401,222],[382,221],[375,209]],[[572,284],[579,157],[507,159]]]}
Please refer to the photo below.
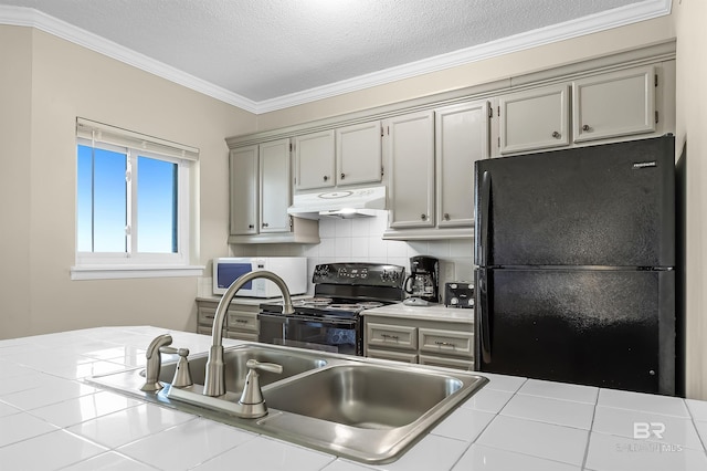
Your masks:
{"label": "glossy white tile countertop surrounding the sink", "polygon": [[707,469],[707,402],[689,399],[484,375],[490,383],[400,460],[370,467],[82,381],[144,365],[163,333],[192,353],[211,344],[148,326],[0,341],[0,469]]}

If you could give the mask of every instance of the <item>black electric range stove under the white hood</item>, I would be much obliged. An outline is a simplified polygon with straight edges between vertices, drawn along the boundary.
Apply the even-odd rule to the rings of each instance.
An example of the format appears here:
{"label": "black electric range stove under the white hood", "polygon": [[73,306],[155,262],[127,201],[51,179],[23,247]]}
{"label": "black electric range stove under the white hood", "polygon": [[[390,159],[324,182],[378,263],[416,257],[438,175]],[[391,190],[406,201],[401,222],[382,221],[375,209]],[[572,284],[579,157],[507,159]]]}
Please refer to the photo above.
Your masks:
{"label": "black electric range stove under the white hood", "polygon": [[293,301],[294,314],[284,315],[282,302],[261,304],[258,342],[363,355],[361,311],[402,301],[404,274],[389,264],[316,265],[314,297]]}

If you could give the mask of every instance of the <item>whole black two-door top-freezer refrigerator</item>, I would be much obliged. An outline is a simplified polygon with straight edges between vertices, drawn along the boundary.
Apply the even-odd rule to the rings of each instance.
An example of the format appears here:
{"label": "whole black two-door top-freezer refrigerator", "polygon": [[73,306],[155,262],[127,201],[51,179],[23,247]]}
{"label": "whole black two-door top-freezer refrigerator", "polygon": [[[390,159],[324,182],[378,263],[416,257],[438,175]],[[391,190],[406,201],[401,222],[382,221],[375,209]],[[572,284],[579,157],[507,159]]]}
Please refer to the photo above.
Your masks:
{"label": "whole black two-door top-freezer refrigerator", "polygon": [[475,367],[676,394],[675,139],[475,164]]}

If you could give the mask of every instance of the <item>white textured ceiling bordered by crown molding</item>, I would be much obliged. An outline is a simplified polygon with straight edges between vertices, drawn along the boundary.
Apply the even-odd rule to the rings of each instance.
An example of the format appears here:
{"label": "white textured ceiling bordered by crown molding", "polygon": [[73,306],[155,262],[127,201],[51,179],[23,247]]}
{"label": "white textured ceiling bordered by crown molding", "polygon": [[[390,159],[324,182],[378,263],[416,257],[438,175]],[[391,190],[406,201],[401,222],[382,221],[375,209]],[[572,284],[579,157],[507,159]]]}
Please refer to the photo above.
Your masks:
{"label": "white textured ceiling bordered by crown molding", "polygon": [[[669,12],[669,0],[0,0],[0,7],[6,6],[0,23],[3,11],[31,12],[40,25],[62,20],[99,36],[84,36],[83,42],[108,40],[139,53],[141,63],[147,59],[173,67],[253,108],[268,102],[286,104],[286,97],[305,92],[314,100],[323,87],[431,57],[442,64],[436,65],[440,69],[443,54],[558,24],[597,19],[591,25],[600,30],[616,25],[614,19],[620,24],[641,21]],[[64,31],[64,27],[45,29]],[[394,73],[388,76],[395,78]]]}

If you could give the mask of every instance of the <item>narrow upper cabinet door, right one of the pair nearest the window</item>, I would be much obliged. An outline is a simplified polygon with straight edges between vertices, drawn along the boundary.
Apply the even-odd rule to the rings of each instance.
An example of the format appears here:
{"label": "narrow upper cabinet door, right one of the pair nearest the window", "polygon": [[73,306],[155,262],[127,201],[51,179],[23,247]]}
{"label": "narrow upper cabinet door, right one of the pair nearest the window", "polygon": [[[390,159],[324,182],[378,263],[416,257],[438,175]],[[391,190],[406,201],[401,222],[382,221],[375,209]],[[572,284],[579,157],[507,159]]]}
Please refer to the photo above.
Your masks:
{"label": "narrow upper cabinet door, right one of the pair nearest the window", "polygon": [[289,139],[260,146],[261,233],[289,232]]}

